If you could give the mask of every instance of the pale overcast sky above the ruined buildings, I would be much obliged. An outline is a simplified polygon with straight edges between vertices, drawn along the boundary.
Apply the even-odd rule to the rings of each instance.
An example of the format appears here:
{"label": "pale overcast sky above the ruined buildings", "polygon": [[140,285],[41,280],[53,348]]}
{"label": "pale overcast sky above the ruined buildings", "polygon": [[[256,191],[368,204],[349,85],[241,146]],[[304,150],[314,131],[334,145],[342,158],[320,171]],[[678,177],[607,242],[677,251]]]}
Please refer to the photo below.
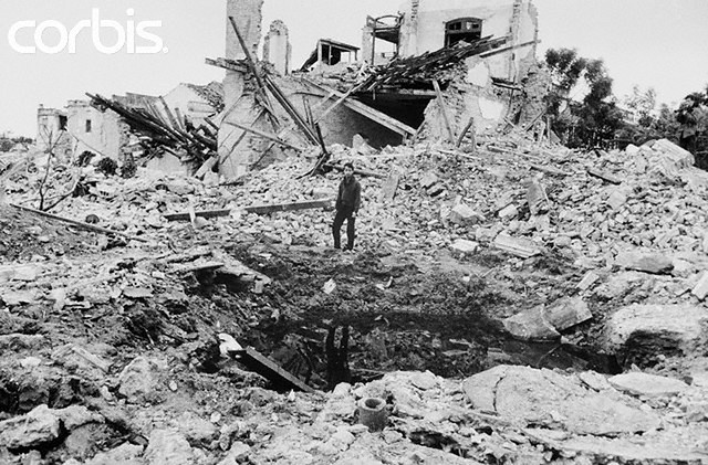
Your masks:
{"label": "pale overcast sky above the ruined buildings", "polygon": [[[473,0],[469,0],[473,3]],[[605,61],[622,97],[634,84],[654,87],[659,102],[674,103],[708,84],[708,0],[534,0],[540,13],[541,53],[546,47],[575,47]],[[361,44],[366,14],[395,13],[400,0],[266,0],[263,30],[283,20],[290,29],[293,67],[299,67],[319,38]],[[76,30],[75,53],[69,53],[71,31],[92,19],[119,24],[135,36],[114,54],[96,50],[90,30]],[[128,11],[131,10],[131,11]],[[136,92],[166,94],[180,82],[206,84],[223,72],[205,57],[223,56],[226,0],[0,0],[0,133],[33,136],[37,107],[63,107],[84,93]],[[19,53],[9,32],[18,21],[17,45],[34,45],[34,32],[54,53]],[[52,21],[48,23],[48,21]],[[162,21],[162,25],[146,23]],[[131,34],[131,24],[143,23]],[[60,30],[65,29],[66,38]],[[152,35],[148,35],[152,34]],[[159,40],[157,41],[156,38]],[[59,51],[65,39],[67,45]],[[105,29],[103,46],[118,40]],[[42,47],[40,47],[42,49]],[[150,51],[157,53],[128,53]],[[159,50],[157,50],[159,49]]]}

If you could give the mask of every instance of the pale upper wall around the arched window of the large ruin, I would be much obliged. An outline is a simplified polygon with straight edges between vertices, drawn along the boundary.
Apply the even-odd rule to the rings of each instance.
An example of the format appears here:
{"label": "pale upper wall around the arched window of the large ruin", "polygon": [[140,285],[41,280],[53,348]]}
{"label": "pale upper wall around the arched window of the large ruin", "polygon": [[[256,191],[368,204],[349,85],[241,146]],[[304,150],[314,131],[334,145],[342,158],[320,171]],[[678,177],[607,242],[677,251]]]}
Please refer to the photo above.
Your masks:
{"label": "pale upper wall around the arched window of the large ruin", "polygon": [[[507,46],[537,40],[538,14],[530,0],[412,0],[400,29],[400,54],[420,55],[445,46],[445,24],[478,18],[482,36],[510,35]],[[535,45],[489,59],[492,76],[518,82],[535,60]]]}

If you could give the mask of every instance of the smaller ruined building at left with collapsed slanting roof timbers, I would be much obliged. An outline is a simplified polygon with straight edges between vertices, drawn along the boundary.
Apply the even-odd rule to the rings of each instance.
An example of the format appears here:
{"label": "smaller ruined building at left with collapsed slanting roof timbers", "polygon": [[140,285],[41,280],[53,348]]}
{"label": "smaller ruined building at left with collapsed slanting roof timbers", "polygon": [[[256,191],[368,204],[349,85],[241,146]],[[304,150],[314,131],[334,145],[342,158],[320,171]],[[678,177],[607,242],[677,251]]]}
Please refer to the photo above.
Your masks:
{"label": "smaller ruined building at left with collapsed slanting roof timbers", "polygon": [[[64,159],[90,152],[117,162],[123,162],[127,155],[148,155],[146,162],[170,172],[185,171],[186,160],[181,159],[177,144],[183,140],[177,130],[189,133],[204,127],[207,118],[222,109],[223,99],[218,82],[204,86],[183,83],[164,97],[135,93],[112,98],[88,96],[91,99],[69,101],[63,109],[40,105],[37,134],[40,150],[51,150]],[[156,147],[160,150],[154,150]]]}

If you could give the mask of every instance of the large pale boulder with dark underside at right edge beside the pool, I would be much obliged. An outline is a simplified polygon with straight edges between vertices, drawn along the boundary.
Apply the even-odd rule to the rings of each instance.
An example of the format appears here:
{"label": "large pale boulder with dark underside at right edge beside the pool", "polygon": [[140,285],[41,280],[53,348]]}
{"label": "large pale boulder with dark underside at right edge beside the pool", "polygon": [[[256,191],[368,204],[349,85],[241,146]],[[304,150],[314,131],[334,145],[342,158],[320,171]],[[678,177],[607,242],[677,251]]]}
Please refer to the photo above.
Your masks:
{"label": "large pale boulder with dark underside at right edge beside the pool", "polygon": [[633,304],[617,310],[605,325],[605,349],[622,356],[627,366],[650,366],[658,356],[708,347],[708,309],[704,307]]}

